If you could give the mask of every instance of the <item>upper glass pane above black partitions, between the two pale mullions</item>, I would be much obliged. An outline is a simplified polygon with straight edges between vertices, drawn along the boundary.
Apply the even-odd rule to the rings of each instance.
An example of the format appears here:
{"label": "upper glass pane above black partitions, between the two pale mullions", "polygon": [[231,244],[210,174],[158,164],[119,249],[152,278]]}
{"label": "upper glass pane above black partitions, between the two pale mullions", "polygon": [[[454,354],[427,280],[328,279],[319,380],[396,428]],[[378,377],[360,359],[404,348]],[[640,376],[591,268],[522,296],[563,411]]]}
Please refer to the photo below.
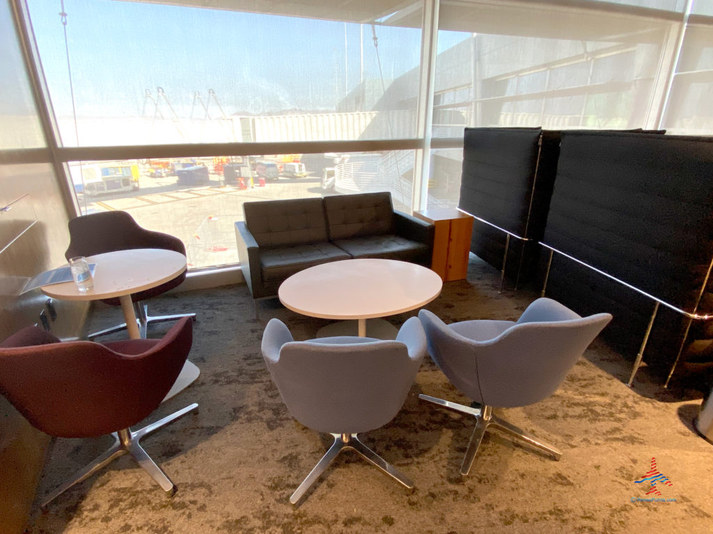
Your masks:
{"label": "upper glass pane above black partitions, between the two pale mullions", "polygon": [[[639,4],[678,9],[675,1]],[[434,135],[456,125],[643,127],[640,103],[652,98],[669,28],[615,12],[441,1],[436,92],[471,91],[453,103],[457,113],[438,105]]]}

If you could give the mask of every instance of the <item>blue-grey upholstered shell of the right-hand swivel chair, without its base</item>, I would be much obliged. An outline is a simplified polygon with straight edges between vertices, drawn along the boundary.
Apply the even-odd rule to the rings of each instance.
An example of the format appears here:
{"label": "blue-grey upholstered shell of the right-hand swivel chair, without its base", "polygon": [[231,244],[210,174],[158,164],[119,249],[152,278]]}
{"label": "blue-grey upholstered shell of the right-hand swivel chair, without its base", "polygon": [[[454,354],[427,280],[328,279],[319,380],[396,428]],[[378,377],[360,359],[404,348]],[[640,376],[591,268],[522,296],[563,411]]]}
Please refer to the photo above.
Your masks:
{"label": "blue-grey upholstered shell of the right-hand swivel chair, without its base", "polygon": [[473,341],[421,310],[429,353],[471,399],[493,407],[538,402],[560,386],[612,316],[582,318],[549,298],[535,300],[517,323],[486,341]]}

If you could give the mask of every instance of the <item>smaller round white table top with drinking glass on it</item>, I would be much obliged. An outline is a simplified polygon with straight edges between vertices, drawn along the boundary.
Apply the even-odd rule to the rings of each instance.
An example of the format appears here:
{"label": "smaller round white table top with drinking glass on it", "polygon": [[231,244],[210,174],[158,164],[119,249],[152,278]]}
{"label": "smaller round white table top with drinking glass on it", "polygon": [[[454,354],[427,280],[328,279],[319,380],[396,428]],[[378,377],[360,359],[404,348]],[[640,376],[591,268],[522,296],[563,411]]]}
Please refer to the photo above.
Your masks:
{"label": "smaller round white table top with drinking glass on it", "polygon": [[87,256],[88,263],[96,263],[94,287],[82,293],[74,282],[42,286],[48,297],[64,300],[97,300],[121,297],[155,288],[173,280],[186,268],[186,258],[163,248],[133,248]]}

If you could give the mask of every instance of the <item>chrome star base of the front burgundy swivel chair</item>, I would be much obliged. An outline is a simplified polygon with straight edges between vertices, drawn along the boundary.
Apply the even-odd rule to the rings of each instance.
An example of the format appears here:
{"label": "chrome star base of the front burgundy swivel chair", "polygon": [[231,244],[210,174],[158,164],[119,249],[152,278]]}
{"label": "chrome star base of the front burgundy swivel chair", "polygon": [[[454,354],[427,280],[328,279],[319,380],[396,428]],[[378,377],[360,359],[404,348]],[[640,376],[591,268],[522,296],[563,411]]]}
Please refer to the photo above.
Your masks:
{"label": "chrome star base of the front burgundy swivel chair", "polygon": [[173,423],[176,419],[180,419],[180,417],[183,417],[185,414],[188,414],[195,409],[198,409],[198,404],[194,402],[193,404],[178,410],[178,412],[174,412],[173,414],[170,414],[153,424],[144,426],[143,429],[137,431],[124,429],[118,432],[113,432],[112,435],[114,436],[114,439],[116,439],[113,446],[111,446],[111,448],[104,454],[101,454],[101,456],[98,456],[96,459],[91,461],[91,463],[81,469],[81,471],[78,471],[78,473],[76,473],[70,481],[63,483],[55,491],[50,493],[42,503],[42,508],[46,507],[49,503],[51,503],[51,501],[75,484],[85,480],[93,473],[96,473],[96,471],[110,464],[112,461],[116,460],[119,456],[123,456],[124,454],[130,454],[136,463],[143,467],[145,471],[147,471],[148,474],[150,474],[150,476],[158,482],[159,486],[163,488],[163,491],[165,491],[169,497],[173,496],[176,492],[175,484],[170,478],[168,478],[168,476],[166,476],[166,473],[164,473],[161,468],[155,464],[151,457],[146,454],[146,451],[144,451],[143,447],[140,446],[139,440],[144,436],[148,436],[149,434],[157,431],[162,426]]}

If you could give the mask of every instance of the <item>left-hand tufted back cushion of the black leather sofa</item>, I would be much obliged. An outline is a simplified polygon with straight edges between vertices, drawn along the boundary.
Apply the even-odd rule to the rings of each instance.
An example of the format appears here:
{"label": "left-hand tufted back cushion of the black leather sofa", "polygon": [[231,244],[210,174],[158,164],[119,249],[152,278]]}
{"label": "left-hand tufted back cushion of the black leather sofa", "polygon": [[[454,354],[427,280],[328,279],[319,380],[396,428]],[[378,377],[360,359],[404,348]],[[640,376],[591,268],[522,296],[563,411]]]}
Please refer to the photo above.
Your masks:
{"label": "left-hand tufted back cushion of the black leather sofa", "polygon": [[245,202],[242,211],[260,247],[328,241],[321,198]]}

